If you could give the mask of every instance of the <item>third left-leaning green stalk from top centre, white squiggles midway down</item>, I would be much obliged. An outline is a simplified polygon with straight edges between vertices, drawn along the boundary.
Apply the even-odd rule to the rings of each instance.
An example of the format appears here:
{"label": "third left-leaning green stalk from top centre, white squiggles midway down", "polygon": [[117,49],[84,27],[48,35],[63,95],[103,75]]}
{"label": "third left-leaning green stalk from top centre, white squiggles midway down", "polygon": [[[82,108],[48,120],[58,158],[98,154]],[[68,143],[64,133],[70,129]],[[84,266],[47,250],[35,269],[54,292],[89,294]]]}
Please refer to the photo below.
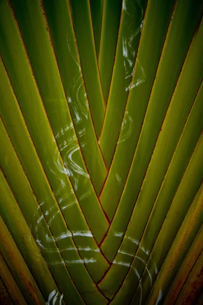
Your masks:
{"label": "third left-leaning green stalk from top centre, white squiggles midway down", "polygon": [[[55,0],[44,0],[43,3],[66,99],[69,102],[73,124],[80,143],[78,149],[82,150],[90,178],[96,193],[99,194],[107,176],[107,169],[97,143],[89,111],[69,6],[65,0],[58,3]],[[64,126],[63,129],[65,129]]]}

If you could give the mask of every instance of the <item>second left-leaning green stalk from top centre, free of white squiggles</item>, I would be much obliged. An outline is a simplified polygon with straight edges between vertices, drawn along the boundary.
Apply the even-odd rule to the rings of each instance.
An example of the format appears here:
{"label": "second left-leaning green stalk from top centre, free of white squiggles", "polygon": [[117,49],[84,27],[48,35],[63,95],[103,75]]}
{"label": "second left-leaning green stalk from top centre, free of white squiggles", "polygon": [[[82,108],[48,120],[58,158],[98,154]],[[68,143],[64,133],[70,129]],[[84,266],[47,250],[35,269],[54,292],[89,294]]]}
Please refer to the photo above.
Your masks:
{"label": "second left-leaning green stalk from top centre, free of white squiggles", "polygon": [[87,98],[99,138],[105,115],[105,101],[100,82],[89,0],[70,0]]}

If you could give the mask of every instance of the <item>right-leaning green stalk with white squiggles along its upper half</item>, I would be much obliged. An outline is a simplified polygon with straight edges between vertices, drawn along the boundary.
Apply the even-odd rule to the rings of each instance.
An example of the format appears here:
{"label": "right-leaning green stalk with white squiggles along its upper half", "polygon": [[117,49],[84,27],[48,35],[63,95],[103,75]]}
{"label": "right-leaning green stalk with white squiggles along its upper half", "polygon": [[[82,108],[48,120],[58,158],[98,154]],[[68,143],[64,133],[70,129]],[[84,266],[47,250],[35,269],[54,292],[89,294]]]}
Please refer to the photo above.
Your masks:
{"label": "right-leaning green stalk with white squiggles along its upper half", "polygon": [[146,0],[123,2],[115,63],[111,80],[104,126],[99,143],[106,164],[109,168],[133,74],[138,44],[143,27]]}

